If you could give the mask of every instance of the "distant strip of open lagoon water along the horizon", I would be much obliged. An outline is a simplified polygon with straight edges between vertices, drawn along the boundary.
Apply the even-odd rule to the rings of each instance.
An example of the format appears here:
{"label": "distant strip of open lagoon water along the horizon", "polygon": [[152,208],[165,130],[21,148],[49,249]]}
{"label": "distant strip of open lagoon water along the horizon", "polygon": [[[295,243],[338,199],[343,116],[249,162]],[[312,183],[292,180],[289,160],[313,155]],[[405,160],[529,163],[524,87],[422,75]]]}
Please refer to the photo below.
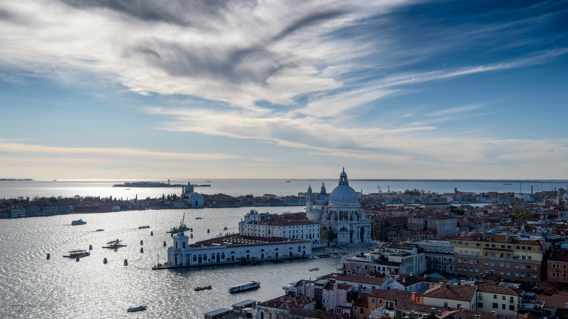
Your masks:
{"label": "distant strip of open lagoon water along the horizon", "polygon": [[[211,187],[195,187],[195,191],[202,192],[203,194],[218,194],[223,193],[227,195],[247,195],[253,194],[254,196],[263,194],[274,195],[298,195],[299,192],[305,192],[308,186],[312,186],[315,192],[319,192],[321,183],[325,183],[328,192],[333,190],[337,185],[336,179],[328,180],[290,180],[287,183],[285,179],[191,179],[192,184],[210,184]],[[134,180],[109,180],[109,179],[90,179],[90,180],[77,180],[66,179],[59,181],[51,180],[36,180],[36,181],[0,181],[0,198],[17,198],[18,196],[63,196],[73,197],[74,195],[80,196],[101,196],[113,198],[135,198],[137,195],[139,199],[151,198],[161,196],[162,194],[180,194],[181,188],[166,187],[166,188],[132,188],[132,187],[112,187],[114,184],[122,184],[124,182],[136,182]],[[165,182],[165,179],[156,179],[152,182]],[[187,184],[187,179],[176,179],[170,181],[172,184]],[[413,188],[424,189],[425,191],[432,192],[453,192],[454,187],[460,191],[467,192],[531,192],[531,186],[534,192],[539,190],[554,190],[554,188],[566,188],[566,182],[556,183],[513,183],[511,185],[504,185],[502,182],[375,182],[375,181],[349,181],[357,191],[363,191],[364,194],[378,192],[377,186],[381,187],[383,192],[387,191],[390,186],[391,191],[404,191],[406,189],[412,190]],[[538,187],[537,187],[538,186]],[[131,188],[127,190],[127,188]]]}

